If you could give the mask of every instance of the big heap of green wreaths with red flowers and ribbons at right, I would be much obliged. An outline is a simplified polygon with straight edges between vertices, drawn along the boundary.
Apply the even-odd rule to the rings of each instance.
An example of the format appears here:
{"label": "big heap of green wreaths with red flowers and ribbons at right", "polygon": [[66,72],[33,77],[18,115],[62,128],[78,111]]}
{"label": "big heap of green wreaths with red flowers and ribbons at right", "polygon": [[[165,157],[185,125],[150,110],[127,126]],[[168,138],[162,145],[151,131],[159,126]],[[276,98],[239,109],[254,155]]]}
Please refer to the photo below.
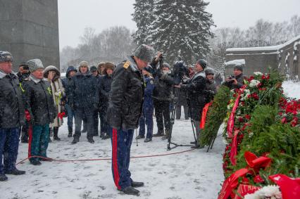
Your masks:
{"label": "big heap of green wreaths with red flowers and ribbons at right", "polygon": [[[283,94],[282,81],[277,72],[255,72],[242,89],[230,92],[223,134],[227,141],[225,182],[219,199],[281,198],[280,189],[271,186],[274,182],[269,176],[300,176],[300,101]],[[239,195],[240,186],[261,191]]]}

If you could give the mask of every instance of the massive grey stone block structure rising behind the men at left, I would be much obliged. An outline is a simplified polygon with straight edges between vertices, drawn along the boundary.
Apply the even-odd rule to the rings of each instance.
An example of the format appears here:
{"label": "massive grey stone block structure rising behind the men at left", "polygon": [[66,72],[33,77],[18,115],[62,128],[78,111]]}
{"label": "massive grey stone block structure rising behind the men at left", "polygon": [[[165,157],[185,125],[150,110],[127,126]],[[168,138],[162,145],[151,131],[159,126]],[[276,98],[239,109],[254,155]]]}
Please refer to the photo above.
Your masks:
{"label": "massive grey stone block structure rising behind the men at left", "polygon": [[32,58],[59,65],[57,0],[0,0],[0,51],[10,51],[13,68]]}

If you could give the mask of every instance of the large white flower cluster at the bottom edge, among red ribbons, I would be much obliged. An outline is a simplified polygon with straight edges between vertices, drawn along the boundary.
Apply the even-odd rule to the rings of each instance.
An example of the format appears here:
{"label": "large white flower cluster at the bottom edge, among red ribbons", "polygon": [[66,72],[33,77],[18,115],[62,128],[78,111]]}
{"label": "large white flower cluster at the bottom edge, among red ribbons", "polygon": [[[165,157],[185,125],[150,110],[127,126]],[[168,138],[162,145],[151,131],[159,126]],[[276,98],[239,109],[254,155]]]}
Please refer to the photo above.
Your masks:
{"label": "large white flower cluster at the bottom edge, among red ribbons", "polygon": [[260,190],[252,194],[245,195],[244,199],[282,199],[282,194],[280,192],[279,186],[264,186]]}

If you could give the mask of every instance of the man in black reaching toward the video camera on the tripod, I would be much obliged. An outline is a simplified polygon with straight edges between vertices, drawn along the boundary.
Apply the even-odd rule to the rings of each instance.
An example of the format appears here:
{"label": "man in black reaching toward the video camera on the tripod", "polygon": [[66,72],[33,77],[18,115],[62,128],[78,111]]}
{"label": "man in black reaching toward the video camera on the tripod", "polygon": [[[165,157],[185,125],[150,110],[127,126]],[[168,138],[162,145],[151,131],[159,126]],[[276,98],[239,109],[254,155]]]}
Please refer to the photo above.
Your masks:
{"label": "man in black reaching toward the video camera on the tripod", "polygon": [[[200,136],[200,118],[202,109],[206,103],[206,94],[204,93],[206,89],[206,75],[204,69],[206,68],[206,60],[200,59],[196,62],[195,71],[196,74],[189,79],[185,84],[179,84],[178,86],[183,90],[187,91],[188,94],[188,105],[191,113],[193,124],[196,128],[197,140]],[[194,143],[194,142],[192,142]],[[199,143],[192,148],[203,148]]]}

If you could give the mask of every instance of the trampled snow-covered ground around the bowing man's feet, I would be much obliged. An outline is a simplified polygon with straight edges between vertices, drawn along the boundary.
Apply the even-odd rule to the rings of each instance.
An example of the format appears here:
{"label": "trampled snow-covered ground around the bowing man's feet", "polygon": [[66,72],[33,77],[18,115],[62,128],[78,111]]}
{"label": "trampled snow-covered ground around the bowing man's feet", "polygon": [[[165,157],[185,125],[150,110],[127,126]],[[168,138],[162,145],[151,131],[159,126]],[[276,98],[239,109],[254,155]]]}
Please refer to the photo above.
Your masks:
{"label": "trampled snow-covered ground around the bowing man's feet", "polygon": [[[155,121],[155,120],[154,120]],[[154,124],[156,126],[156,124]],[[189,120],[176,120],[173,141],[193,141]],[[67,137],[66,122],[60,129],[61,141],[49,143],[48,156],[60,160],[94,159],[111,157],[111,141],[95,138],[87,142],[82,134],[80,142],[71,145]],[[156,133],[156,127],[154,129]],[[166,141],[154,138],[150,143],[139,140],[132,143],[132,156],[156,155],[189,150],[178,147],[166,150]],[[144,181],[139,198],[217,198],[223,181],[222,154],[225,146],[218,137],[211,151],[192,150],[187,153],[154,158],[132,159],[132,179]],[[27,157],[27,144],[20,143],[18,160]],[[26,161],[18,165],[27,173],[11,176],[0,183],[0,198],[137,198],[116,190],[111,174],[111,161],[42,162],[41,166]]]}

